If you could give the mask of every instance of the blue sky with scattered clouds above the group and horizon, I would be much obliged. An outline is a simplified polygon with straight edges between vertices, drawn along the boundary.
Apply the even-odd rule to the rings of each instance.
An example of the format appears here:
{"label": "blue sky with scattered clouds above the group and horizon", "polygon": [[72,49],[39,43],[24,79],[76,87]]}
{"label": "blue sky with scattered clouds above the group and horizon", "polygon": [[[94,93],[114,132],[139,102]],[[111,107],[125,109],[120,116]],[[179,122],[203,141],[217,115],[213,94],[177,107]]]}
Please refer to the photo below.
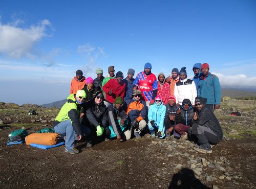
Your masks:
{"label": "blue sky with scattered clouds above the group and horizon", "polygon": [[254,0],[0,0],[0,102],[66,99],[77,69],[156,76],[207,62],[222,87],[256,90]]}

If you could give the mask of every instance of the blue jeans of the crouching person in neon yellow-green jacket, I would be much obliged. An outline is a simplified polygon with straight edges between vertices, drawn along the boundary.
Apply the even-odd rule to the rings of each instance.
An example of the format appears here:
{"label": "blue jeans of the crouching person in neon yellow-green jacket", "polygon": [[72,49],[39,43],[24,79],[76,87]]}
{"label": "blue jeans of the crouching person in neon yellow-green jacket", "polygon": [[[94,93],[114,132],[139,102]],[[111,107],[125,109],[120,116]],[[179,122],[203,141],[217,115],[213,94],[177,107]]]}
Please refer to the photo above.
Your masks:
{"label": "blue jeans of the crouching person in neon yellow-green jacket", "polygon": [[[83,132],[83,136],[88,136],[91,133],[91,130],[84,125],[81,125],[81,126],[82,126],[81,129]],[[65,146],[68,150],[74,148],[75,140],[76,140],[76,132],[70,120],[66,120],[58,123],[54,127],[54,130],[58,134],[66,135]]]}

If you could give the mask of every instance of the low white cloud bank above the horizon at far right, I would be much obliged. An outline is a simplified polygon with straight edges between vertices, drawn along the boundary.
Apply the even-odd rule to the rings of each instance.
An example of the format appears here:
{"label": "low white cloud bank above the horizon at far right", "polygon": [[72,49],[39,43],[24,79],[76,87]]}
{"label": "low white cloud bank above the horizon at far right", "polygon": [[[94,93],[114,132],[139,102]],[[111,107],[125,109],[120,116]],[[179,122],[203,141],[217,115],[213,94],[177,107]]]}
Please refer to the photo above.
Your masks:
{"label": "low white cloud bank above the horizon at far right", "polygon": [[222,87],[232,88],[253,88],[256,89],[256,76],[247,77],[244,74],[239,75],[223,75],[220,73],[212,73],[218,76]]}

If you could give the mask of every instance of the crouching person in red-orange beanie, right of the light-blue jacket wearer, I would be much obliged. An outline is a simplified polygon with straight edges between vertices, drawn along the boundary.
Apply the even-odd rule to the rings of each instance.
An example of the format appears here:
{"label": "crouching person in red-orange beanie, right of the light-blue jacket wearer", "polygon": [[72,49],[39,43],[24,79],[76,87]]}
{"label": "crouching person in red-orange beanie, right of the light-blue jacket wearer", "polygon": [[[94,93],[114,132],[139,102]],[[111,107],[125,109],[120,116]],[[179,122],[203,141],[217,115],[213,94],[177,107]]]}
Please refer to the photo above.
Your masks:
{"label": "crouching person in red-orange beanie, right of the light-blue jacket wearer", "polygon": [[165,127],[165,133],[166,137],[170,136],[170,133],[172,133],[174,127],[175,127],[175,116],[176,112],[179,109],[179,106],[176,105],[176,98],[174,95],[170,95],[168,97],[168,104],[166,106],[166,113],[164,117],[164,127]]}

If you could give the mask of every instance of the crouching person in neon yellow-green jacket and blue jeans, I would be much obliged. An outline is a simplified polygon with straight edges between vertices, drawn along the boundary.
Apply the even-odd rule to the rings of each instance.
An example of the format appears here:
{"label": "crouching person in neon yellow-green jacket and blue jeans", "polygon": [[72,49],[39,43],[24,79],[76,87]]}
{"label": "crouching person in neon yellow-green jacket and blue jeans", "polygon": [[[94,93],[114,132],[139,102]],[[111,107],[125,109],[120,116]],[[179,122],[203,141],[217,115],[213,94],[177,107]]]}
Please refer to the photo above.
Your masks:
{"label": "crouching person in neon yellow-green jacket and blue jeans", "polygon": [[77,90],[76,94],[68,96],[68,101],[62,106],[55,118],[54,130],[60,135],[66,135],[65,152],[77,154],[79,150],[74,148],[75,139],[81,140],[83,136],[90,134],[90,129],[79,122],[82,104],[86,101],[86,92]]}

